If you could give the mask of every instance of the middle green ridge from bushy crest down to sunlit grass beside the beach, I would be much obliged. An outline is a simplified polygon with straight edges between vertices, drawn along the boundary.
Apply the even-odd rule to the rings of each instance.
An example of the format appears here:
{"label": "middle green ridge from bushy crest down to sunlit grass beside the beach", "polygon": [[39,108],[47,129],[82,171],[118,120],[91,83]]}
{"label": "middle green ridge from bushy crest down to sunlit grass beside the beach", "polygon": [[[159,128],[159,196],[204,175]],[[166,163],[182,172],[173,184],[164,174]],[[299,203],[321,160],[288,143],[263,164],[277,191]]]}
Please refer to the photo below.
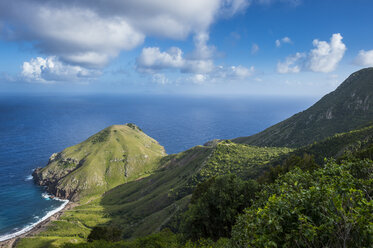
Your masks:
{"label": "middle green ridge from bushy crest down to sunlit grass beside the beach", "polygon": [[227,173],[255,178],[270,161],[290,151],[223,141],[163,157],[151,175],[121,184],[94,200],[81,201],[48,230],[22,239],[18,247],[86,242],[95,226],[118,227],[123,238],[141,237],[166,226],[177,228],[174,222],[187,209],[199,183]]}

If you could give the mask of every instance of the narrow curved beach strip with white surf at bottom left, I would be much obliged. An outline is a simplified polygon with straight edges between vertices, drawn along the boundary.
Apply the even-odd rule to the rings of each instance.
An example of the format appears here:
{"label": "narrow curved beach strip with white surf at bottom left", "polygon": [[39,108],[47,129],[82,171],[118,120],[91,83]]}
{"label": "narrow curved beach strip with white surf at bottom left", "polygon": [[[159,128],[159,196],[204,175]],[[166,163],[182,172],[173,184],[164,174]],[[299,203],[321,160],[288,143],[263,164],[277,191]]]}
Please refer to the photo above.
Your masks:
{"label": "narrow curved beach strip with white surf at bottom left", "polygon": [[[17,241],[21,238],[32,237],[40,232],[44,231],[46,227],[53,221],[58,220],[65,211],[73,209],[78,204],[75,202],[66,202],[62,209],[58,210],[57,212],[53,213],[51,216],[46,217],[44,220],[40,221],[37,224],[34,224],[30,227],[30,230],[25,231],[24,233],[15,234],[14,237],[10,237],[4,241],[0,241],[0,248],[11,248],[15,247]],[[22,231],[22,230],[21,230]]]}

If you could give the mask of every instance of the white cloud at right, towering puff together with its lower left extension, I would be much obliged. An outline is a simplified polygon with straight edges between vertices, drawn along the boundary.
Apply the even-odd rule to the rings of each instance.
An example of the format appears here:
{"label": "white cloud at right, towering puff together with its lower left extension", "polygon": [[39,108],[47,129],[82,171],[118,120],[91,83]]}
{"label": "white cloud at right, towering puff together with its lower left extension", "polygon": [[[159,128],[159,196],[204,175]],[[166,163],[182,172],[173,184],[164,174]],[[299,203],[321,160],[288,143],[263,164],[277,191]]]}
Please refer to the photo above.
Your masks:
{"label": "white cloud at right, towering puff together with its lower left extension", "polygon": [[277,71],[279,73],[298,73],[301,70],[332,72],[337,68],[347,50],[342,39],[343,37],[339,33],[333,34],[329,43],[315,39],[313,41],[315,48],[307,55],[297,53],[287,57],[284,62],[277,64]]}

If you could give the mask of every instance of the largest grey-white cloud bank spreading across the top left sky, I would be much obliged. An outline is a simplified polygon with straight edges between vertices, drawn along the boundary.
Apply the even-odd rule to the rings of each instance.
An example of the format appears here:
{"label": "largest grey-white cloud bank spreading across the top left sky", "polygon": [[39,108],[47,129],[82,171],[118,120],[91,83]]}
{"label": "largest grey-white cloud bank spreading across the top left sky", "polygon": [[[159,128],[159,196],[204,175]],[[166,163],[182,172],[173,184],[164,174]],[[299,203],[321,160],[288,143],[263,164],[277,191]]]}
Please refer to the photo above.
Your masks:
{"label": "largest grey-white cloud bank spreading across the top left sky", "polygon": [[[222,15],[249,0],[17,0],[0,1],[0,23],[9,40],[31,41],[41,53],[68,64],[101,68],[145,37],[201,40]],[[206,51],[208,52],[208,51]]]}

